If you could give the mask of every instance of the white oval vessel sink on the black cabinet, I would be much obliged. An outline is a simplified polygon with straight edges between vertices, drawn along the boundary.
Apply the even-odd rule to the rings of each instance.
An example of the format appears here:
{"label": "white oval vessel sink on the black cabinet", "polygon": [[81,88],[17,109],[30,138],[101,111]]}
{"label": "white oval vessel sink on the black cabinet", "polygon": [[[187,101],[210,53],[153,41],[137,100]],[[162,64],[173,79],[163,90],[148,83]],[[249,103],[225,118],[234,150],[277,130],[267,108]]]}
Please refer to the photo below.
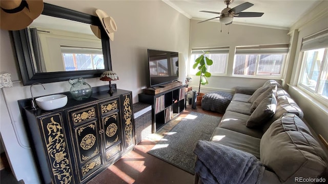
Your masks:
{"label": "white oval vessel sink on the black cabinet", "polygon": [[49,95],[35,99],[36,105],[43,110],[53,110],[64,107],[67,104],[66,95]]}

